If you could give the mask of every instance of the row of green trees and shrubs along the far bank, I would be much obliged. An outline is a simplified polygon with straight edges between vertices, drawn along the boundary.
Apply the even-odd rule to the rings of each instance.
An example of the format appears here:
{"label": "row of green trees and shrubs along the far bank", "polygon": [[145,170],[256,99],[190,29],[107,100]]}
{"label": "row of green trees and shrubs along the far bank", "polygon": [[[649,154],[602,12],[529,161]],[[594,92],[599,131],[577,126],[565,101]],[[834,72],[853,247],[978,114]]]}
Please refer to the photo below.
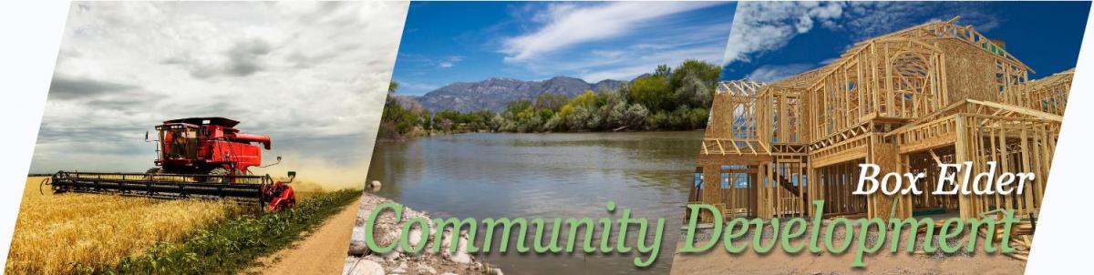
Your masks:
{"label": "row of green trees and shrubs along the far bank", "polygon": [[707,124],[721,68],[687,60],[659,65],[618,88],[586,91],[573,97],[545,93],[510,101],[504,110],[430,112],[404,106],[388,88],[380,138],[404,139],[461,132],[582,132],[697,130]]}

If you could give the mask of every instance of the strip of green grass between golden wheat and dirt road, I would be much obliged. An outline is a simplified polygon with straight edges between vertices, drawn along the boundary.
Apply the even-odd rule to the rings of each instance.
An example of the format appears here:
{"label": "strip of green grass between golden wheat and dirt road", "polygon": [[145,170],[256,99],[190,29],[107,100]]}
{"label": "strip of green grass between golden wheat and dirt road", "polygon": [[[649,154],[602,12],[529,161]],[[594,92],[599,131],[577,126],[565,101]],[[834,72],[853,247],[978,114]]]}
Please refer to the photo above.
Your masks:
{"label": "strip of green grass between golden wheat and dirt road", "polygon": [[[357,200],[360,190],[311,195],[296,207],[264,215],[237,215],[198,230],[182,243],[159,243],[93,273],[207,274],[236,273],[254,260],[287,248],[327,217]],[[349,240],[347,240],[349,241]]]}

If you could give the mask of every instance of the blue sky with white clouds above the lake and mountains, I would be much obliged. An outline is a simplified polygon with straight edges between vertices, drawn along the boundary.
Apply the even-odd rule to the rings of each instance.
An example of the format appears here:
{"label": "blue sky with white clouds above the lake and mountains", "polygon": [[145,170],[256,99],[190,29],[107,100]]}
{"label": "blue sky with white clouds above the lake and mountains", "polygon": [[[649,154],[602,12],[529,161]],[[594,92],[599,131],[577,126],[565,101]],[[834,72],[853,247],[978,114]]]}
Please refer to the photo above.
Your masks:
{"label": "blue sky with white clouds above the lake and mountains", "polygon": [[489,77],[630,80],[688,58],[720,63],[726,2],[411,2],[393,80],[422,95]]}

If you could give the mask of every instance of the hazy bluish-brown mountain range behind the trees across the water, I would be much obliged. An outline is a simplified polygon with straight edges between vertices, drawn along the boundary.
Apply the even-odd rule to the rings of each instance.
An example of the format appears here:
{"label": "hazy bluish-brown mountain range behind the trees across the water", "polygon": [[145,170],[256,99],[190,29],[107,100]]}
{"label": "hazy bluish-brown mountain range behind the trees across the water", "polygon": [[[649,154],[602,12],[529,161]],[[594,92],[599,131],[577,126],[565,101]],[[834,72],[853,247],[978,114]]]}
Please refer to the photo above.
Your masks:
{"label": "hazy bluish-brown mountain range behind the trees across the water", "polygon": [[605,80],[587,83],[569,76],[555,76],[546,81],[521,81],[493,77],[479,82],[457,82],[433,89],[417,100],[430,111],[452,109],[458,111],[501,111],[505,105],[517,99],[535,100],[544,93],[562,94],[573,97],[585,91],[618,88],[621,81]]}

